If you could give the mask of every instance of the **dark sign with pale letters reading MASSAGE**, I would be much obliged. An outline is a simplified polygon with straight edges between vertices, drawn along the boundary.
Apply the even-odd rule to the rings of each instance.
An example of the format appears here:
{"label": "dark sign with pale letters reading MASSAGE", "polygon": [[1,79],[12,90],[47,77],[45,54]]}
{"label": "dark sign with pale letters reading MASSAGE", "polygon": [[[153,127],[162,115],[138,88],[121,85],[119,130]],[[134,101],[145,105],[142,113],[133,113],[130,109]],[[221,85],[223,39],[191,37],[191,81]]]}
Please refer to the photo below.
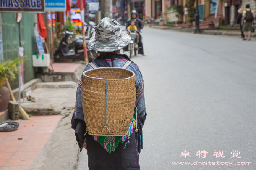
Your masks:
{"label": "dark sign with pale letters reading MASSAGE", "polygon": [[44,12],[44,0],[0,0],[0,13]]}

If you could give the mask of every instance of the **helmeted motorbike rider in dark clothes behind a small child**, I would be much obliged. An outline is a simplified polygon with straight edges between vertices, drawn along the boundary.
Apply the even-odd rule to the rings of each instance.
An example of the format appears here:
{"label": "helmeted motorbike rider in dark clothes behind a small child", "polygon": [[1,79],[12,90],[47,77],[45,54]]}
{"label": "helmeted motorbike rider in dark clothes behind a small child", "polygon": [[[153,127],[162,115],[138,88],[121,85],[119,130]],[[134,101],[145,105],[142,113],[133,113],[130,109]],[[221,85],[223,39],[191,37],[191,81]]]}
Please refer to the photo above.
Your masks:
{"label": "helmeted motorbike rider in dark clothes behind a small child", "polygon": [[[132,10],[131,11],[131,19],[129,19],[128,23],[127,23],[127,26],[126,26],[126,29],[128,26],[131,25],[131,21],[134,21],[135,22],[135,25],[139,31],[139,34],[140,34],[140,31],[141,29],[143,28],[143,23],[141,21],[141,19],[138,18],[138,13],[136,10]],[[139,51],[138,53],[139,54],[142,54],[143,56],[146,56],[146,54],[144,53],[143,51],[143,44],[142,44],[142,41],[141,41],[141,35],[139,35],[139,43],[138,43],[138,46],[139,46]]]}

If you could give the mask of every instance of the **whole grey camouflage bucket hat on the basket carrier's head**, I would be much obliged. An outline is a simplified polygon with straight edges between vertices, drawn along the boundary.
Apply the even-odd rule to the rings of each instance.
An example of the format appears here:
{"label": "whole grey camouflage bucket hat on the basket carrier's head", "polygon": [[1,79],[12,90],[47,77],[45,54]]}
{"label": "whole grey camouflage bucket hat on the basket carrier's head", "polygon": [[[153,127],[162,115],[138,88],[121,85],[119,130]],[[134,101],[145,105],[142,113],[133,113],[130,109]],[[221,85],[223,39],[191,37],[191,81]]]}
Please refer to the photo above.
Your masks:
{"label": "whole grey camouflage bucket hat on the basket carrier's head", "polygon": [[95,27],[95,36],[90,39],[89,47],[100,52],[113,52],[126,47],[130,41],[130,35],[121,32],[115,19],[105,17]]}

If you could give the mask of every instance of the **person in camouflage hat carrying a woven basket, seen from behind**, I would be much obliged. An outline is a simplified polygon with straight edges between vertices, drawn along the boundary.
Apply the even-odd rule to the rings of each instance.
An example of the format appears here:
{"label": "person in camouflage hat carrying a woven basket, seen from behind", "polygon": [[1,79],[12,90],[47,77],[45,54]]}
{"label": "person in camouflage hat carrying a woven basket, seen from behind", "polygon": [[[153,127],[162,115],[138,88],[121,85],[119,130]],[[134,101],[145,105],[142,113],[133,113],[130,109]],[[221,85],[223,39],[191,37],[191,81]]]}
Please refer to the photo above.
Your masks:
{"label": "person in camouflage hat carrying a woven basket, seen from behind", "polygon": [[110,18],[95,32],[89,47],[98,51],[97,58],[79,80],[71,125],[80,152],[87,149],[89,170],[140,170],[144,81],[137,64],[120,54],[131,37]]}

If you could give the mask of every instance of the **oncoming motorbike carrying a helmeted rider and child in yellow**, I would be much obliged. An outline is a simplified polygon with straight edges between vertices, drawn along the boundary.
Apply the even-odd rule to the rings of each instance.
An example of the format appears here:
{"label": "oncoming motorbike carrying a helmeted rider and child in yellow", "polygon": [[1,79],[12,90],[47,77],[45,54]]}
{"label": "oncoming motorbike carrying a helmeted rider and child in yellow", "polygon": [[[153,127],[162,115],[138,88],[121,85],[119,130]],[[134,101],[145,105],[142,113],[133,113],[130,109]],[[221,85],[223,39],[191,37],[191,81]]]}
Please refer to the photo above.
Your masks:
{"label": "oncoming motorbike carrying a helmeted rider and child in yellow", "polygon": [[131,41],[129,43],[128,46],[128,50],[130,51],[130,58],[131,55],[133,54],[134,51],[134,55],[136,56],[138,51],[139,51],[139,31],[135,31],[135,30],[129,30],[127,29],[127,34],[131,36]]}

